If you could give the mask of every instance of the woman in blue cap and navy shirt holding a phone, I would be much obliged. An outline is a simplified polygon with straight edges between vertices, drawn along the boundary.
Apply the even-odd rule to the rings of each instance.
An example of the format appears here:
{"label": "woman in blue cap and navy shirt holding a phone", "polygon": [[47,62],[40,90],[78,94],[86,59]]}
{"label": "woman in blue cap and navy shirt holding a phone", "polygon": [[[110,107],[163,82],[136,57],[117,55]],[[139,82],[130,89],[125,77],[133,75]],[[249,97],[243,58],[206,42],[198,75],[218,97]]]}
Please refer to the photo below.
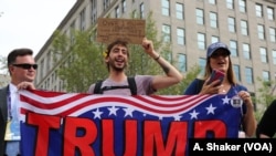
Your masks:
{"label": "woman in blue cap and navy shirt holding a phone", "polygon": [[[243,114],[241,118],[241,127],[246,137],[252,137],[256,129],[256,119],[254,116],[254,106],[251,94],[247,89],[237,84],[227,45],[222,42],[212,43],[206,51],[206,65],[204,79],[195,79],[183,92],[184,95],[203,95],[203,94],[226,94],[230,97],[238,95],[243,101]],[[209,83],[213,70],[224,73],[224,79]],[[240,133],[241,133],[240,132]]]}

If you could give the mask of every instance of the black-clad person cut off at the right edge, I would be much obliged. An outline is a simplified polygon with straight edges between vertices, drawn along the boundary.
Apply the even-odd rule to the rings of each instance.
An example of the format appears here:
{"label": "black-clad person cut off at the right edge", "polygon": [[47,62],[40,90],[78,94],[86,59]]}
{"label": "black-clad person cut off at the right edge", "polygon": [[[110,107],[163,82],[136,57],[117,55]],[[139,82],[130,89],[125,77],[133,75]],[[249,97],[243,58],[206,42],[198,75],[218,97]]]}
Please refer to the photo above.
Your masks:
{"label": "black-clad person cut off at the right edge", "polygon": [[265,110],[256,129],[256,137],[272,138],[276,133],[276,100]]}

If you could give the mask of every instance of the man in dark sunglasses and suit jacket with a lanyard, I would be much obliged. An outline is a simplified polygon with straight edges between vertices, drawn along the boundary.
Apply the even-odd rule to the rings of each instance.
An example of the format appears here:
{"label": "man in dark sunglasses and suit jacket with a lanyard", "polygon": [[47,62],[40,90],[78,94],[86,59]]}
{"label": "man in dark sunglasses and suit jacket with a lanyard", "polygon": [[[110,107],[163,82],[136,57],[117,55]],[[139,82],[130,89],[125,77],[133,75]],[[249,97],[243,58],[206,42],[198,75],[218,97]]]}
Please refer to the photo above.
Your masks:
{"label": "man in dark sunglasses and suit jacket with a lanyard", "polygon": [[18,90],[34,90],[38,64],[30,49],[14,49],[8,55],[11,82],[0,89],[0,156],[20,156]]}

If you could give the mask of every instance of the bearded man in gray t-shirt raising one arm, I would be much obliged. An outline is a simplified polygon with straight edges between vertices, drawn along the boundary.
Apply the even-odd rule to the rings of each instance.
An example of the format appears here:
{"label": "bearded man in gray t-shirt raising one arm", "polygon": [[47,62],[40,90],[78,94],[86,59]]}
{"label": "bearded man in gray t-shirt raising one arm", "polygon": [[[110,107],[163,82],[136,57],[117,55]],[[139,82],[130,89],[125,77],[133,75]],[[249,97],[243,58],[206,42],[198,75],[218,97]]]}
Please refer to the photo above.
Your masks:
{"label": "bearded man in gray t-shirt raising one arm", "polygon": [[[152,41],[144,38],[141,45],[145,52],[162,67],[166,75],[136,75],[134,80],[134,85],[137,86],[136,94],[150,95],[157,90],[166,89],[182,81],[182,74],[155,51]],[[117,40],[107,46],[105,63],[109,76],[103,81],[99,89],[100,94],[135,95],[128,87],[130,84],[125,73],[128,61],[129,50],[127,48],[127,42]],[[95,83],[89,86],[87,93],[98,94],[95,93],[94,89]]]}

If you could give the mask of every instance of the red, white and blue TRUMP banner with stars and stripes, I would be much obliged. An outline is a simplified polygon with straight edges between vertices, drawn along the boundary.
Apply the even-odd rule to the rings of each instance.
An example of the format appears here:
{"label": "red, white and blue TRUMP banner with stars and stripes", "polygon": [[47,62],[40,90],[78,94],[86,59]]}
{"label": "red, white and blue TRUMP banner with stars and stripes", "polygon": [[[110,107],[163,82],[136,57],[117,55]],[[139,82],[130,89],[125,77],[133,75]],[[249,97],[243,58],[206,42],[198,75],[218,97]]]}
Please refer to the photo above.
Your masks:
{"label": "red, white and blue TRUMP banner with stars and stripes", "polygon": [[189,156],[189,138],[236,138],[226,95],[20,91],[23,156]]}

